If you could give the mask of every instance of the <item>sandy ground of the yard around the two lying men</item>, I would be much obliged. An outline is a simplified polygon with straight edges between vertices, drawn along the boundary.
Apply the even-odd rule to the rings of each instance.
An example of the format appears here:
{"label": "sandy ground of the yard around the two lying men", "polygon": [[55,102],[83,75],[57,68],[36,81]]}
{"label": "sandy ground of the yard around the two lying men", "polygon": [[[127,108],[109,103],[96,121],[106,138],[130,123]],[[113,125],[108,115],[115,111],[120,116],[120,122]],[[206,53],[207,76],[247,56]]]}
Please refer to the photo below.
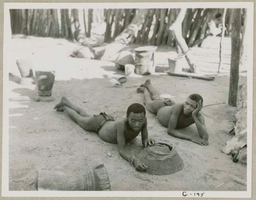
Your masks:
{"label": "sandy ground of the yard around the two lying men", "polygon": [[[214,42],[209,43],[216,44],[218,39],[210,38]],[[168,136],[166,128],[158,123],[155,115],[147,112],[149,137],[172,144],[184,162],[181,171],[170,175],[151,175],[136,171],[119,156],[116,145],[101,141],[97,134],[85,131],[71,121],[66,113],[53,109],[60,98],[66,96],[91,114],[106,112],[122,118],[125,117],[127,106],[134,102],[142,103],[142,95],[136,93],[136,84],[139,85],[148,78],[161,93],[176,96],[176,102],[184,101],[191,93],[200,93],[204,98],[204,105],[227,102],[230,39],[226,38],[225,43],[225,63],[220,74],[216,73],[219,59],[217,47],[207,45],[206,42],[203,48],[192,50],[199,73],[211,74],[216,77],[215,81],[164,74],[163,71],[167,70],[166,57],[173,52],[167,47],[160,47],[156,63],[161,67],[156,69],[156,74],[129,78],[123,87],[117,88],[112,87],[103,75],[120,76],[124,72],[117,71],[111,61],[68,57],[77,48],[72,42],[52,38],[13,38],[8,50],[12,56],[6,60],[8,66],[5,66],[9,72],[19,75],[15,60],[36,52],[37,55],[44,55],[44,59],[40,60],[39,56],[34,58],[35,65],[55,70],[56,79],[53,87],[55,100],[52,102],[36,102],[35,85],[20,85],[12,81],[8,83],[9,189],[31,190],[29,185],[36,170],[82,173],[100,160],[108,170],[112,190],[246,190],[246,186],[230,179],[237,176],[246,181],[246,165],[233,163],[231,156],[220,150],[231,138],[228,132],[233,127],[235,108],[227,103],[202,109],[209,132],[209,146]],[[132,49],[133,46],[129,48]],[[195,134],[196,126],[191,125],[182,132]],[[127,149],[134,154],[139,153],[142,148],[140,135],[127,144]],[[222,185],[217,188],[220,184]]]}

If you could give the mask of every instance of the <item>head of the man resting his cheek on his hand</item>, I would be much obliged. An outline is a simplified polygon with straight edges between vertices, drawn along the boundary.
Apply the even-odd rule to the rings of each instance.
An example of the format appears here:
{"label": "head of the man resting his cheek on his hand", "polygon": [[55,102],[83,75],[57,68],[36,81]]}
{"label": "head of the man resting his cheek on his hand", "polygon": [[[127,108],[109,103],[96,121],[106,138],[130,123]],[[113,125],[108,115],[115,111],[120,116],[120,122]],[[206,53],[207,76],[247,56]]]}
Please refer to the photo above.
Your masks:
{"label": "head of the man resting his cheek on his hand", "polygon": [[199,94],[191,94],[188,96],[187,100],[184,103],[184,115],[190,115],[196,108],[197,103],[201,100],[203,103],[203,98]]}

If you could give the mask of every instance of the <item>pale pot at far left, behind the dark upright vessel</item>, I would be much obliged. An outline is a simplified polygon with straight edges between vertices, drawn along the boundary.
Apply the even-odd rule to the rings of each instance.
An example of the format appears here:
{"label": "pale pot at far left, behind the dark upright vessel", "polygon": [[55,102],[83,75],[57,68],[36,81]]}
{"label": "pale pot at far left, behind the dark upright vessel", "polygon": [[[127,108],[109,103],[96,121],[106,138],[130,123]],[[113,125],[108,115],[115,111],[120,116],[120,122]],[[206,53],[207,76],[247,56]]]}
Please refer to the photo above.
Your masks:
{"label": "pale pot at far left, behind the dark upright vessel", "polygon": [[16,64],[22,77],[33,77],[33,63],[30,59],[16,60]]}

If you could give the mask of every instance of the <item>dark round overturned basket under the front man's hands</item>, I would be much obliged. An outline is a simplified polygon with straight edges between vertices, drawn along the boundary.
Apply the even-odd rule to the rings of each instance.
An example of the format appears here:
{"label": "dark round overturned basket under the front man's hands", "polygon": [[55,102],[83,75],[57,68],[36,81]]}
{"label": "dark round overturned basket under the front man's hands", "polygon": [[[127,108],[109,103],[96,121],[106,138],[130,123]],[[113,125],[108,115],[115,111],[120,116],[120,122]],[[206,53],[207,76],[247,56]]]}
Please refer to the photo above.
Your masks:
{"label": "dark round overturned basket under the front man's hands", "polygon": [[165,175],[183,168],[183,161],[178,152],[169,144],[156,143],[144,148],[138,155],[147,166],[147,173]]}

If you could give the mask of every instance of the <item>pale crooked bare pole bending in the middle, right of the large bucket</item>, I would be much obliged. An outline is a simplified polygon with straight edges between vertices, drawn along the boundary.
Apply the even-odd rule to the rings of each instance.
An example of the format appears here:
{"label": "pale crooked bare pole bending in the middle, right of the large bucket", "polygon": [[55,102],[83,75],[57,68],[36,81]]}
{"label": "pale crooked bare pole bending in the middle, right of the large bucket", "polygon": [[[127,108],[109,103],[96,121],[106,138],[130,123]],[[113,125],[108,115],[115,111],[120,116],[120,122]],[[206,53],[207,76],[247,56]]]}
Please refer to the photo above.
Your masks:
{"label": "pale crooked bare pole bending in the middle, right of the large bucket", "polygon": [[186,9],[182,8],[180,9],[180,12],[172,26],[170,26],[170,30],[173,31],[176,42],[181,48],[181,51],[183,54],[185,54],[185,58],[187,60],[187,63],[190,67],[190,72],[194,73],[195,72],[195,67],[196,64],[191,60],[190,55],[189,55],[189,49],[187,47],[187,44],[182,37],[182,21],[184,19],[186,13]]}

